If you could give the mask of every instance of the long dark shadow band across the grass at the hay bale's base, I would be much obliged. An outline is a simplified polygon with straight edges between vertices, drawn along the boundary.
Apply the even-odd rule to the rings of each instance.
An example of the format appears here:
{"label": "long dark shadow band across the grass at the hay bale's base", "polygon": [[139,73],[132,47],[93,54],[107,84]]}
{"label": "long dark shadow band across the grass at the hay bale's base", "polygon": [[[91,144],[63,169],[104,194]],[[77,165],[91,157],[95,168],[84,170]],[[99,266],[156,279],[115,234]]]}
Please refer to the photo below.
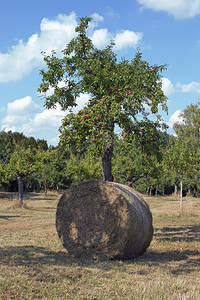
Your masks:
{"label": "long dark shadow band across the grass at the hay bale's base", "polygon": [[[113,263],[117,263],[118,260],[107,261],[106,269],[112,269]],[[130,264],[146,264],[150,268],[161,266],[169,262],[181,262],[175,267],[171,273],[174,275],[191,273],[197,271],[200,264],[200,252],[192,250],[184,251],[166,251],[156,252],[147,251],[143,256],[136,259],[125,260],[124,263]],[[105,261],[104,261],[105,263]],[[6,266],[26,266],[29,268],[42,268],[42,266],[63,266],[63,267],[77,267],[77,266],[89,266],[95,268],[105,269],[105,264],[101,264],[98,261],[90,259],[75,259],[70,257],[67,252],[51,251],[44,247],[36,246],[13,246],[0,248],[0,264]],[[165,265],[164,265],[165,267]],[[140,274],[140,271],[138,274]],[[141,271],[143,272],[143,271]],[[146,272],[144,273],[144,275]],[[142,273],[140,275],[143,275]]]}

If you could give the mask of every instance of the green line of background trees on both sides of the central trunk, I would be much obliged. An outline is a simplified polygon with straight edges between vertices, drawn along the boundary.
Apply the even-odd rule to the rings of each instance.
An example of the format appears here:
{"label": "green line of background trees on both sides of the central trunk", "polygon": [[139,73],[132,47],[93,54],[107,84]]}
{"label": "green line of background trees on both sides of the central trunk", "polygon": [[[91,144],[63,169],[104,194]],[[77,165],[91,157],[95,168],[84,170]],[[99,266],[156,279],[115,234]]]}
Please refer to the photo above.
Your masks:
{"label": "green line of background trees on both sides of the central trunk", "polygon": [[[183,193],[199,196],[200,103],[182,113],[174,125],[176,136],[157,131],[144,151],[137,139],[127,142],[115,134],[112,158],[114,180],[151,194]],[[154,144],[156,140],[156,144]],[[66,189],[88,179],[102,179],[101,157],[96,145],[85,142],[78,151],[48,146],[47,141],[18,132],[0,132],[0,189],[17,192]]]}

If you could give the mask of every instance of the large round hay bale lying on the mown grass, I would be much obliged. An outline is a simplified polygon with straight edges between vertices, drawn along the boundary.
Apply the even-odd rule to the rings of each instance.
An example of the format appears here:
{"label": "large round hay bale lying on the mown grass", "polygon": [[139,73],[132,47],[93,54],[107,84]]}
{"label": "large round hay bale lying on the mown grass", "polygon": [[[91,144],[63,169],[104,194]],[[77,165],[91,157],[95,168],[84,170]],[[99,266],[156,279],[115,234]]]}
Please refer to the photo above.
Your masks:
{"label": "large round hay bale lying on the mown grass", "polygon": [[141,196],[125,185],[95,180],[61,196],[56,228],[68,254],[79,258],[134,258],[153,237],[152,215]]}

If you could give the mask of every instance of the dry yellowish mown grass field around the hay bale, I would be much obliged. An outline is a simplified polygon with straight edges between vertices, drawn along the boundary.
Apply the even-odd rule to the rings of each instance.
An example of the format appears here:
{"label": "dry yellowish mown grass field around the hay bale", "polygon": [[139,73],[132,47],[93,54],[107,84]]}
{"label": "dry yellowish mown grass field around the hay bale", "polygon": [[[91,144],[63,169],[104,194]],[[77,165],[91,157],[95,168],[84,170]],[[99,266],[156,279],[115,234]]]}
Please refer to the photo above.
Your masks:
{"label": "dry yellowish mown grass field around the hay bale", "polygon": [[[4,195],[5,196],[5,195]],[[200,299],[200,200],[145,197],[154,238],[134,260],[68,257],[58,239],[59,194],[0,198],[0,299]]]}

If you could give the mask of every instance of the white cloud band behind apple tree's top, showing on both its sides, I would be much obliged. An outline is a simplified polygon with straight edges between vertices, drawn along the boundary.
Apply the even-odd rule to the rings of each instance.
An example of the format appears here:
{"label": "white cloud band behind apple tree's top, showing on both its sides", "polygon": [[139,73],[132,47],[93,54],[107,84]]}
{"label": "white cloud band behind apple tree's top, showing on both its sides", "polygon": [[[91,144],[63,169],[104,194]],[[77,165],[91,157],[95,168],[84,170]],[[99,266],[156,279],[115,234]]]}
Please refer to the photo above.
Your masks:
{"label": "white cloud band behind apple tree's top, showing on both its sides", "polygon": [[[103,47],[114,40],[115,49],[124,47],[137,47],[143,34],[129,30],[117,34],[110,33],[107,29],[94,28],[103,17],[97,13],[89,28],[89,35],[94,40],[95,46]],[[58,15],[54,20],[44,18],[40,24],[40,32],[31,35],[27,41],[20,39],[7,53],[0,53],[0,83],[16,81],[29,74],[35,67],[41,67],[43,57],[41,52],[49,54],[55,50],[59,55],[68,42],[76,35],[77,16],[74,12],[69,15]]]}

